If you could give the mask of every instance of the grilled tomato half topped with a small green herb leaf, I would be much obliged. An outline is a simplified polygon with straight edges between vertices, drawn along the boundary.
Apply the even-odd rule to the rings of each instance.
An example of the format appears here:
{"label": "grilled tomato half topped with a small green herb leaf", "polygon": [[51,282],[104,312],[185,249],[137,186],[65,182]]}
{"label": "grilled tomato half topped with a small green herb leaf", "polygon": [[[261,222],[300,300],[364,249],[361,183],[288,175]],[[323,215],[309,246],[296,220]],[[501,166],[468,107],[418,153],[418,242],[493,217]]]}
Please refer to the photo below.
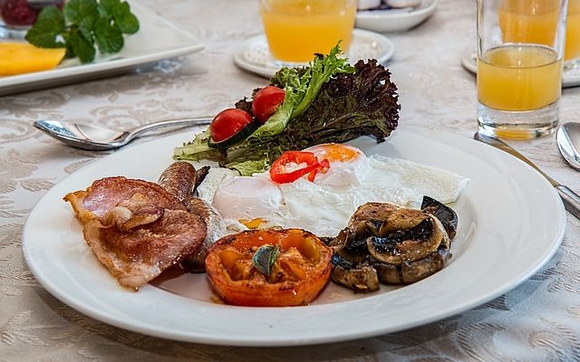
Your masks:
{"label": "grilled tomato half topped with a small green herb leaf", "polygon": [[250,230],[224,236],[206,258],[222,300],[248,307],[313,301],[330,278],[333,249],[301,229]]}

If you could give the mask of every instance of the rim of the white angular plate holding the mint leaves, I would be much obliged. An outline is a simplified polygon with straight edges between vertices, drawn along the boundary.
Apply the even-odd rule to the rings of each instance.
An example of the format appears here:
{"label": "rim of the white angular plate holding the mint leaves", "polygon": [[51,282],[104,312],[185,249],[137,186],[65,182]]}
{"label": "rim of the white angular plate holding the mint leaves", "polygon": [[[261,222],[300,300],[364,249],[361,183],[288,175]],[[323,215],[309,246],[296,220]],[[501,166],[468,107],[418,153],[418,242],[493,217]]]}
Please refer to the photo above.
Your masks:
{"label": "rim of the white angular plate holding the mint leaves", "polygon": [[[180,46],[167,48],[165,50],[157,50],[154,52],[143,52],[129,57],[115,59],[115,54],[111,54],[113,59],[103,60],[102,62],[91,62],[88,64],[76,64],[63,68],[55,68],[46,71],[33,71],[24,74],[16,74],[11,76],[0,77],[0,95],[11,94],[9,87],[20,86],[25,87],[26,90],[35,90],[35,85],[42,88],[43,82],[49,81],[63,81],[79,76],[97,75],[105,71],[125,70],[131,67],[136,67],[150,62],[157,62],[162,59],[172,58],[179,55],[189,54],[192,52],[200,52],[205,48],[203,43],[200,43],[193,34],[184,29],[179,29],[175,24],[172,24],[166,18],[155,13],[148,6],[141,5],[138,1],[129,0],[131,7],[139,9],[139,12],[148,13],[149,16],[155,17],[158,21],[162,21],[165,25],[171,28],[174,32],[189,38],[189,43],[184,43]],[[21,90],[17,90],[21,91]]]}

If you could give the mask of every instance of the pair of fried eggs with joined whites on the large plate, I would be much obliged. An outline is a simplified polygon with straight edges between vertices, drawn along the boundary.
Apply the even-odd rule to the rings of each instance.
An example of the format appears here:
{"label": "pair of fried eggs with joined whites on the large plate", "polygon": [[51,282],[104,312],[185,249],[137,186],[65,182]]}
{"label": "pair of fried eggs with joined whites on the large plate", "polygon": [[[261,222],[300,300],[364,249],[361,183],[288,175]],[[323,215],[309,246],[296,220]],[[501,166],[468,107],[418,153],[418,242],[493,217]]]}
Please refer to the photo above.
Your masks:
{"label": "pair of fried eggs with joined whites on the large plate", "polygon": [[449,204],[469,182],[452,172],[404,159],[366,157],[360,149],[343,144],[317,145],[304,151],[330,164],[326,172],[316,174],[314,182],[304,176],[292,183],[275,184],[268,172],[224,176],[224,171],[211,168],[201,185],[208,186],[200,197],[218,209],[230,233],[280,226],[335,236],[364,203],[418,208],[423,195],[429,195]]}

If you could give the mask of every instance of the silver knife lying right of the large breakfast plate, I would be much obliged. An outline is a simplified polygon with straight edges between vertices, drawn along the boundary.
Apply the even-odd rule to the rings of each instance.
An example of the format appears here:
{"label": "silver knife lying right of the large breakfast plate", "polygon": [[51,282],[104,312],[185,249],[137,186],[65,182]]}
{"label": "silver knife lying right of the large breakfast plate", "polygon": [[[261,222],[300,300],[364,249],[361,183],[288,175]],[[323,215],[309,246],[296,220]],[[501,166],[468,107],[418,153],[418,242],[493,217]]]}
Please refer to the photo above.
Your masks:
{"label": "silver knife lying right of the large breakfast plate", "polygon": [[522,161],[526,162],[527,165],[534,167],[536,171],[540,173],[540,175],[546,177],[547,181],[550,184],[552,184],[554,188],[556,188],[558,195],[560,195],[562,201],[564,202],[565,209],[570,214],[573,214],[575,215],[576,218],[580,219],[580,195],[576,194],[567,186],[560,184],[554,178],[547,176],[541,169],[537,168],[536,165],[532,163],[532,161],[524,157],[524,155],[522,155],[521,153],[517,152],[517,150],[515,150],[514,148],[509,147],[507,143],[503,142],[502,140],[495,137],[486,136],[479,132],[476,132],[476,134],[473,135],[473,138],[475,138],[480,142],[493,146],[495,148],[499,148],[502,151],[505,151],[508,154],[515,156],[521,159]]}

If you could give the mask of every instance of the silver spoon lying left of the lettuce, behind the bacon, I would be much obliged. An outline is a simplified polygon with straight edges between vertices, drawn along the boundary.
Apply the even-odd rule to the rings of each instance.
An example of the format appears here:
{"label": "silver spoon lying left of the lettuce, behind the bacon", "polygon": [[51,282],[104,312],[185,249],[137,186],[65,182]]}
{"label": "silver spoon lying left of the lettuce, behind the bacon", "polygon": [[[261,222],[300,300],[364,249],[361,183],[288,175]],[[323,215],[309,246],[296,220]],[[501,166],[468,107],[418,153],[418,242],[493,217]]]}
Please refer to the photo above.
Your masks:
{"label": "silver spoon lying left of the lettuce, behind the bacon", "polygon": [[83,123],[64,122],[61,120],[37,120],[34,127],[46,132],[52,138],[73,148],[103,151],[125,146],[141,133],[153,129],[171,126],[200,126],[208,125],[213,117],[198,117],[191,119],[168,119],[146,124],[127,131],[103,129]]}

